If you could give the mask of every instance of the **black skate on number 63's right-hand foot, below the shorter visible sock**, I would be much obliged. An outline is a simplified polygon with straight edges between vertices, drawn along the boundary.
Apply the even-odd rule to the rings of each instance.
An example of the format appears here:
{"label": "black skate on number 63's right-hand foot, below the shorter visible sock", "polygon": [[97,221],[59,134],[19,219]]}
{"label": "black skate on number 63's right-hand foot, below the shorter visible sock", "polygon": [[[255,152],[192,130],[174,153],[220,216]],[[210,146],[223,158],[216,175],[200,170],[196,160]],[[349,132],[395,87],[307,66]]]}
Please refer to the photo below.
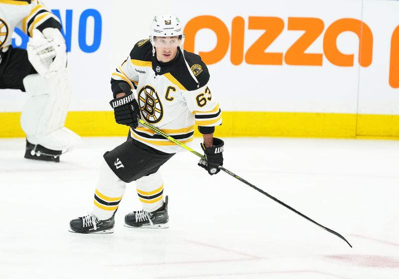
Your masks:
{"label": "black skate on number 63's right-hand foot, below the shorter visible sock", "polygon": [[125,216],[125,227],[166,229],[169,228],[168,196],[165,197],[164,209],[153,212],[133,211]]}

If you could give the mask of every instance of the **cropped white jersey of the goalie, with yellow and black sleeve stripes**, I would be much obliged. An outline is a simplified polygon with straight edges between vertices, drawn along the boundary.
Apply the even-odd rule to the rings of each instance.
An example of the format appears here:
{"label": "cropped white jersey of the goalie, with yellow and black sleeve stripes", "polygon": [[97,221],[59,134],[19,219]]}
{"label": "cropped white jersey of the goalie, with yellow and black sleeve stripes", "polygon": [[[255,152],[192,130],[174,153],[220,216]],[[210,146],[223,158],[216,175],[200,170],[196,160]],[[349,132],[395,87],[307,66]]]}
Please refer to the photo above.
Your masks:
{"label": "cropped white jersey of the goalie, with yellow and black sleeve stripes", "polygon": [[0,48],[11,44],[15,27],[31,36],[33,29],[61,26],[59,19],[38,0],[0,0]]}

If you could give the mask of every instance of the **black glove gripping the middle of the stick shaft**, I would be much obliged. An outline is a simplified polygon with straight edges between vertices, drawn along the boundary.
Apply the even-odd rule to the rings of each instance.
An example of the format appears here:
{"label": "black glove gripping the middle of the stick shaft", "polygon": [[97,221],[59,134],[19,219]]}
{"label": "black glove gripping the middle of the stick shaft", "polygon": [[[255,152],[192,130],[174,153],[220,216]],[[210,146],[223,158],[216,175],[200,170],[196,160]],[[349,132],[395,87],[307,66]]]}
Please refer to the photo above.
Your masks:
{"label": "black glove gripping the middle of the stick shaft", "polygon": [[213,146],[205,147],[201,143],[201,148],[205,153],[206,160],[200,159],[198,165],[208,171],[210,175],[216,174],[220,171],[219,165],[223,165],[223,145],[224,142],[221,139],[213,138]]}

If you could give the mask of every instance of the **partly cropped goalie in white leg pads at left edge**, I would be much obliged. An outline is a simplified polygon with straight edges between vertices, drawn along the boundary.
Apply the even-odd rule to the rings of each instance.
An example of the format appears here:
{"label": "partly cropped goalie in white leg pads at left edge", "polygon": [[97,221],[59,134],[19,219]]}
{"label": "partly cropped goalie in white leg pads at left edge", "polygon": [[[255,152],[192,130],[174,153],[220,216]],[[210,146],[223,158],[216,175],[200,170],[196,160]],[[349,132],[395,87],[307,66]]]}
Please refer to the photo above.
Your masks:
{"label": "partly cropped goalie in white leg pads at left edge", "polygon": [[[15,27],[30,36],[27,51],[11,46]],[[79,136],[64,127],[71,89],[59,19],[38,0],[0,0],[0,89],[29,96],[22,114],[25,158],[59,162]]]}

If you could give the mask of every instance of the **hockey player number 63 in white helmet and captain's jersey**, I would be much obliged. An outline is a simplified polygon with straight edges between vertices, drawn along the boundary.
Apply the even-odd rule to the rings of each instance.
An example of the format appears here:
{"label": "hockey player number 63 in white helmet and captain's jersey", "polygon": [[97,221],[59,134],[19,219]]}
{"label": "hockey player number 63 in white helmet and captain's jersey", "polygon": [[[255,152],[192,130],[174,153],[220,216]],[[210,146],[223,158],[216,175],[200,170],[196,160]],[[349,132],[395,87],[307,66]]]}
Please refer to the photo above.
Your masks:
{"label": "hockey player number 63 in white helmet and captain's jersey", "polygon": [[[125,216],[132,228],[168,228],[168,196],[159,170],[176,152],[184,150],[152,130],[138,127],[142,118],[184,143],[193,140],[195,125],[203,135],[207,160],[199,165],[209,174],[223,164],[223,141],[213,138],[221,125],[219,104],[211,94],[209,73],[200,56],[183,50],[183,26],[174,14],[154,18],[149,39],[141,40],[112,74],[118,124],[130,126],[130,137],[104,154],[94,195],[93,213],[73,219],[75,233],[111,233],[114,215],[126,183],[136,181],[143,209]],[[133,92],[137,93],[134,96]]]}

